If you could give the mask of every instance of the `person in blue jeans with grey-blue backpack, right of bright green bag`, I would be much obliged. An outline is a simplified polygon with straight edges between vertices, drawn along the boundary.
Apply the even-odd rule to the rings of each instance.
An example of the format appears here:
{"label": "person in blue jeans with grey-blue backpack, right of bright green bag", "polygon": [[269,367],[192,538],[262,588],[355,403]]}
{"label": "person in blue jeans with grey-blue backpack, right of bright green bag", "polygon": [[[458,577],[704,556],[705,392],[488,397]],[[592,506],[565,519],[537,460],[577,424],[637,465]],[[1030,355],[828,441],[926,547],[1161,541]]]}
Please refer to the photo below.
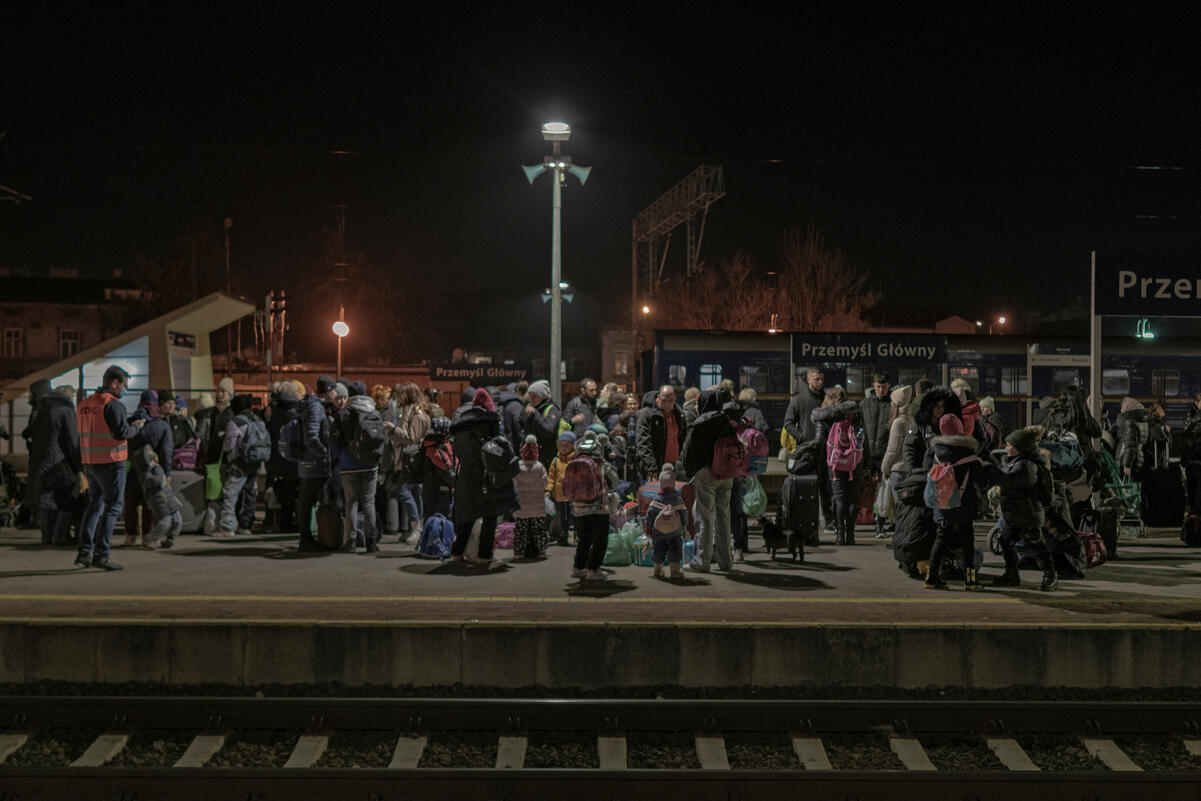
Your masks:
{"label": "person in blue jeans with grey-blue backpack, right of bright green bag", "polygon": [[[249,534],[258,501],[258,468],[270,458],[267,424],[251,408],[250,395],[234,395],[221,452],[221,510],[214,537]],[[264,453],[265,452],[265,453]]]}

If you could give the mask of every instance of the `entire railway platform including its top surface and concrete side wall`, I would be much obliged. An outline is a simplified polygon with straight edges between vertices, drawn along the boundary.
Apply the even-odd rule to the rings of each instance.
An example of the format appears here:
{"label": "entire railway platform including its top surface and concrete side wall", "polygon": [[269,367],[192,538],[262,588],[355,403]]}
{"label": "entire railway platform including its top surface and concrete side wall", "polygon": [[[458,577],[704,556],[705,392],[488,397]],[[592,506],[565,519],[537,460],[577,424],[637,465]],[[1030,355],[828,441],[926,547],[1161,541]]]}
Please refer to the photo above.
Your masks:
{"label": "entire railway platform including its top surface and concrete side wall", "polygon": [[[603,582],[569,576],[573,548],[484,569],[396,542],[300,554],[294,534],[114,549],[125,569],[104,573],[2,530],[0,682],[1190,686],[1201,552],[1151,534],[1054,593],[1033,572],[966,593],[924,590],[867,530],[803,563],[760,550],[728,573]],[[999,569],[986,554],[986,580]]]}

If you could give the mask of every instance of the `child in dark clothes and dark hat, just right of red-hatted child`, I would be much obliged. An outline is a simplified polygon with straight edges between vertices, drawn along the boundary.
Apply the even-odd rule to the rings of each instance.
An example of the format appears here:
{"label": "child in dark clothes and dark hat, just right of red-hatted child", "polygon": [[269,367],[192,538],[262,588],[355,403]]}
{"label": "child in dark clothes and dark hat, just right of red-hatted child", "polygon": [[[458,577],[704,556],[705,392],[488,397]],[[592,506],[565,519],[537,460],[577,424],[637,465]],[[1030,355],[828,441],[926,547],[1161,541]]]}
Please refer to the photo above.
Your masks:
{"label": "child in dark clothes and dark hat, just right of red-hatted child", "polygon": [[1039,448],[1044,429],[1032,425],[1005,437],[1005,461],[988,465],[988,482],[1000,488],[1000,555],[1005,572],[992,580],[994,587],[1021,586],[1017,540],[1034,551],[1042,568],[1039,590],[1050,592],[1059,586],[1054,560],[1047,549],[1042,524],[1054,495],[1051,455]]}

